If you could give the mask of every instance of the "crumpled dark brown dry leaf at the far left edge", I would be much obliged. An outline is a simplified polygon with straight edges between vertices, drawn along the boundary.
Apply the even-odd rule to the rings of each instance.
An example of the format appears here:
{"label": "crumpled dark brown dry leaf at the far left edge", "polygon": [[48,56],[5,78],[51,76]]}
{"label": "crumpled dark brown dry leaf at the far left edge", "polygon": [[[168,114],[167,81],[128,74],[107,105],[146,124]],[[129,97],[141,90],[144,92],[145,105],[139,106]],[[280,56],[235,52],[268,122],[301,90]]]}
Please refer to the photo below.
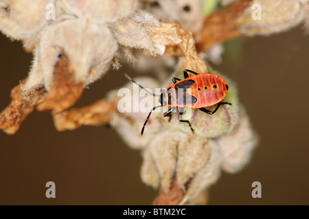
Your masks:
{"label": "crumpled dark brown dry leaf at the far left edge", "polygon": [[[25,83],[26,79],[21,81]],[[37,103],[45,99],[47,92],[44,88],[31,92],[27,96],[23,94],[21,86],[18,85],[11,91],[12,101],[0,114],[0,129],[8,135],[14,135],[23,123],[23,120],[32,113]]]}

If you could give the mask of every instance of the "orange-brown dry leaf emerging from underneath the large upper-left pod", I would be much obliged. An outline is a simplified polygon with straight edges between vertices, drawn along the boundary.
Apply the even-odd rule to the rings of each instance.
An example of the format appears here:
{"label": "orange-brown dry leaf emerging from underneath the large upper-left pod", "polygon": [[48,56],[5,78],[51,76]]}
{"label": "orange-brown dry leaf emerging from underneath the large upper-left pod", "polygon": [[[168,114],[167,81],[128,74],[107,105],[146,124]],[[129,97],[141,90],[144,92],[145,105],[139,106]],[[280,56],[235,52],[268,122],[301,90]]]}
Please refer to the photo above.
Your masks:
{"label": "orange-brown dry leaf emerging from underneath the large upper-left pod", "polygon": [[76,83],[74,75],[67,57],[61,57],[55,66],[54,84],[49,95],[37,105],[36,110],[52,110],[52,114],[57,114],[76,103],[84,91],[84,83]]}

